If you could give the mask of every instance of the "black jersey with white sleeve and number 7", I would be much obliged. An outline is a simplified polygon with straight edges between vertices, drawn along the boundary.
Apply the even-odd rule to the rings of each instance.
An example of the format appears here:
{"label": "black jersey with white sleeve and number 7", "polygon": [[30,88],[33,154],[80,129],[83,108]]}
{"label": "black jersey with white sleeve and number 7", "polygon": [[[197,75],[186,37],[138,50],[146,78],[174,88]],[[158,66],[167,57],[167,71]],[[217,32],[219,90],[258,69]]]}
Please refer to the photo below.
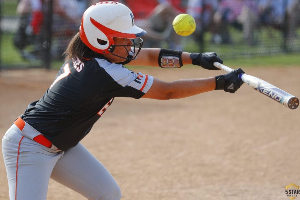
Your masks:
{"label": "black jersey with white sleeve and number 7", "polygon": [[73,58],[64,63],[43,97],[30,103],[21,118],[66,151],[89,133],[114,97],[139,99],[152,83],[152,76],[134,73],[102,55]]}

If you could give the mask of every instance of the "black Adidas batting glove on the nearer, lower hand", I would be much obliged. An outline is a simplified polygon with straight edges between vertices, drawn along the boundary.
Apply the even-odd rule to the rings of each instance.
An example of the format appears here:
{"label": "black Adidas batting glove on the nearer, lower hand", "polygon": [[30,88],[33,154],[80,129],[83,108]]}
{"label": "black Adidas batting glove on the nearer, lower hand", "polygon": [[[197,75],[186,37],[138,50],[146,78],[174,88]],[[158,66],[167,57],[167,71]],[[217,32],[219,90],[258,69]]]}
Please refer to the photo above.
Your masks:
{"label": "black Adidas batting glove on the nearer, lower hand", "polygon": [[225,92],[235,93],[235,91],[237,91],[244,83],[238,78],[238,74],[241,73],[245,72],[241,68],[238,68],[232,72],[216,76],[215,90],[224,90]]}

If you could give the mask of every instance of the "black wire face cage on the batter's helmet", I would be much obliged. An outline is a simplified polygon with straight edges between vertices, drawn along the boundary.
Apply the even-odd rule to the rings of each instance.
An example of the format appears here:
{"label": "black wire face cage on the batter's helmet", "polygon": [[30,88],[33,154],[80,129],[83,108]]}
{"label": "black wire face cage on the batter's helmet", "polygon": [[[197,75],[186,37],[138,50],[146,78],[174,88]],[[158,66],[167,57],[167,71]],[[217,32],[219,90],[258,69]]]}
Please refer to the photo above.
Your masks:
{"label": "black wire face cage on the batter's helmet", "polygon": [[[110,52],[112,55],[115,55],[119,58],[124,58],[126,60],[134,60],[137,58],[137,55],[139,54],[142,46],[143,46],[143,39],[142,38],[134,38],[134,39],[130,39],[132,44],[131,45],[111,45],[110,47]],[[115,47],[116,46],[123,46],[126,51],[127,51],[127,54],[128,56],[125,58],[125,57],[122,57],[122,56],[119,56],[117,54],[114,54],[113,51],[115,50]],[[128,51],[128,49],[126,48],[127,46],[130,46],[131,47],[131,51]]]}

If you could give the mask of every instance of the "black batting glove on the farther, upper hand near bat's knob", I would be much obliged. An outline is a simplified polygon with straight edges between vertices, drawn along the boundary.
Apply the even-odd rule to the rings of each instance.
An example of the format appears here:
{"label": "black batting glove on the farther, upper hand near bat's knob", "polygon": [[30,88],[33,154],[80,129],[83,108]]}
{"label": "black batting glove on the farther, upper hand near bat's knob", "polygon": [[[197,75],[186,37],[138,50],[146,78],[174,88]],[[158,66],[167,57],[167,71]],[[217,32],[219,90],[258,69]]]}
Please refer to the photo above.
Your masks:
{"label": "black batting glove on the farther, upper hand near bat's knob", "polygon": [[215,52],[191,53],[190,58],[192,58],[193,60],[193,65],[199,65],[207,70],[220,70],[213,65],[214,62],[223,64],[223,61],[217,56]]}

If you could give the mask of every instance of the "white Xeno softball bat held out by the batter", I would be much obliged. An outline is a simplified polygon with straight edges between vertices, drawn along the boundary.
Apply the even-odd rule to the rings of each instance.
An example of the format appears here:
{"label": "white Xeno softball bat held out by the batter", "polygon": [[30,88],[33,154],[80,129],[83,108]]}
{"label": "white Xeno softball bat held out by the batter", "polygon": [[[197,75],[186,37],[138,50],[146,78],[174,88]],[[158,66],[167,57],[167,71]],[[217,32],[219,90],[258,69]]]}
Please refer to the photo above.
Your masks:
{"label": "white Xeno softball bat held out by the batter", "polygon": [[[214,66],[226,72],[234,71],[230,67],[227,67],[219,62],[214,62]],[[286,106],[289,109],[296,109],[299,106],[299,99],[297,97],[262,79],[247,74],[239,74],[238,77],[254,90],[277,101],[278,103],[281,103],[283,106]]]}

